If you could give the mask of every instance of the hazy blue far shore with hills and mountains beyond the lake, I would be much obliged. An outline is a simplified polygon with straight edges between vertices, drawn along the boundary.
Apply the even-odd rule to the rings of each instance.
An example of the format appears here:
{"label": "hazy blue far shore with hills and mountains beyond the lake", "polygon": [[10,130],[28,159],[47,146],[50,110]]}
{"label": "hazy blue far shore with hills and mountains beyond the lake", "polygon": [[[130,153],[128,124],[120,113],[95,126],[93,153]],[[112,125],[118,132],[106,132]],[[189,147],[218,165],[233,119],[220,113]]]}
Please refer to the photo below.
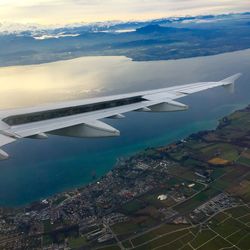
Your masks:
{"label": "hazy blue far shore with hills and mountains beyond the lake", "polygon": [[249,23],[250,13],[54,28],[2,23],[0,66],[91,55],[124,55],[136,61],[214,55],[250,48]]}

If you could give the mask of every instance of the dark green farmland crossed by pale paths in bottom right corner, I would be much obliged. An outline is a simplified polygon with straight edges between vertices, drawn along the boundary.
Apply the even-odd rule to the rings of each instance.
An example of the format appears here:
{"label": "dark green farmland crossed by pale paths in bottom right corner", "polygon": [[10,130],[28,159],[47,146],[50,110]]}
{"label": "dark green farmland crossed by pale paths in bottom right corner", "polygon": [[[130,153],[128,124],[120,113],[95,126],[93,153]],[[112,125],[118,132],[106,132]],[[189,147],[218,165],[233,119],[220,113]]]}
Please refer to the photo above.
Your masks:
{"label": "dark green farmland crossed by pale paths in bottom right corner", "polygon": [[[204,226],[163,224],[123,242],[124,247],[135,250],[214,250],[222,248],[249,250],[250,208],[241,206],[216,214]],[[239,211],[239,213],[237,213]],[[244,216],[246,219],[244,219]],[[238,219],[239,218],[239,219]],[[241,221],[241,218],[242,221]],[[132,244],[133,247],[132,247]]]}

